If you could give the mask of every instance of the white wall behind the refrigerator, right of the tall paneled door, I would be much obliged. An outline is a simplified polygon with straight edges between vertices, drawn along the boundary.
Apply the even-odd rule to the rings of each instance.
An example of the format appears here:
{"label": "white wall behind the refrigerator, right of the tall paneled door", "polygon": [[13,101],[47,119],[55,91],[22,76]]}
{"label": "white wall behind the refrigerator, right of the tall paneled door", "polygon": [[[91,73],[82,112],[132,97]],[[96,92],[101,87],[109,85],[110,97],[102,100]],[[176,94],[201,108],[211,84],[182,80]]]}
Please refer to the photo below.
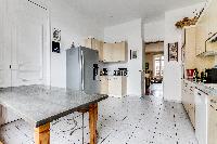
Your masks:
{"label": "white wall behind the refrigerator, right of the tall paneled door", "polygon": [[51,86],[66,87],[66,53],[72,42],[82,45],[84,39],[94,37],[103,39],[103,28],[77,13],[67,4],[68,0],[52,0],[50,3],[51,27],[61,29],[61,53],[51,53]]}

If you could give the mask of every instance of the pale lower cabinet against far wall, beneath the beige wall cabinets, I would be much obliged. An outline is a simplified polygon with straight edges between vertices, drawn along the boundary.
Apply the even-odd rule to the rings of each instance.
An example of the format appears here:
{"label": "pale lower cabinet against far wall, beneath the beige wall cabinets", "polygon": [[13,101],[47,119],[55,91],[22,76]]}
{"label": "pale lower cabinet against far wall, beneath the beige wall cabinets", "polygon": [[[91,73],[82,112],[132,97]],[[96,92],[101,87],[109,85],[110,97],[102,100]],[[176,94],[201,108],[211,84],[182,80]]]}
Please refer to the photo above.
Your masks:
{"label": "pale lower cabinet against far wall, beneath the beige wall cabinets", "polygon": [[108,95],[123,97],[127,94],[127,77],[110,76],[108,77]]}

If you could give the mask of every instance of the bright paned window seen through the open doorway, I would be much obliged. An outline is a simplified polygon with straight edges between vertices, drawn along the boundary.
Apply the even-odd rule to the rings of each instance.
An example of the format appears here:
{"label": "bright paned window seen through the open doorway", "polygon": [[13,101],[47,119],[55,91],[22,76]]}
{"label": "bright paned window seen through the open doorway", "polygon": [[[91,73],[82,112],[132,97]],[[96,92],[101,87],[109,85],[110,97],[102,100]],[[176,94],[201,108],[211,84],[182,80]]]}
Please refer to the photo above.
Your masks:
{"label": "bright paned window seen through the open doorway", "polygon": [[164,56],[156,55],[154,56],[154,76],[163,76],[164,71]]}

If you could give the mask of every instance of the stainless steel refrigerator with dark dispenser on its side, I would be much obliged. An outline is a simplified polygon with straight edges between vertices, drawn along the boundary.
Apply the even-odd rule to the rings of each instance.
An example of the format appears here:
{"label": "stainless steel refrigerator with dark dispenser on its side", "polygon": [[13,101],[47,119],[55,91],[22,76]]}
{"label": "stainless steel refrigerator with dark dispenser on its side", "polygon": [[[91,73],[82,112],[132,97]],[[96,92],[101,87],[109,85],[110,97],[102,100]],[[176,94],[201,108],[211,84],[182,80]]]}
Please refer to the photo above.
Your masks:
{"label": "stainless steel refrigerator with dark dispenser on its side", "polygon": [[79,47],[66,50],[66,88],[99,93],[99,53],[95,50]]}

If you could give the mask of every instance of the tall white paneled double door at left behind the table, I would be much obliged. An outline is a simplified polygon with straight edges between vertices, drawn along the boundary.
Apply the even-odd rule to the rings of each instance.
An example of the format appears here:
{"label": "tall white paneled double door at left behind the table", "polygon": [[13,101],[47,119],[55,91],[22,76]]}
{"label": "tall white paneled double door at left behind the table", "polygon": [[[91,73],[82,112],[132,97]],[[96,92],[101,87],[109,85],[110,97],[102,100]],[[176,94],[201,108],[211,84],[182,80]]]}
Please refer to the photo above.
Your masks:
{"label": "tall white paneled double door at left behind the table", "polygon": [[[16,13],[11,15],[5,10],[0,14],[5,17],[4,25],[0,24],[0,31],[3,31],[0,36],[3,41],[0,42],[0,88],[44,84],[49,79],[46,61],[50,55],[50,49],[44,49],[50,43],[48,11],[29,1],[3,5]],[[5,25],[9,22],[13,23]]]}

